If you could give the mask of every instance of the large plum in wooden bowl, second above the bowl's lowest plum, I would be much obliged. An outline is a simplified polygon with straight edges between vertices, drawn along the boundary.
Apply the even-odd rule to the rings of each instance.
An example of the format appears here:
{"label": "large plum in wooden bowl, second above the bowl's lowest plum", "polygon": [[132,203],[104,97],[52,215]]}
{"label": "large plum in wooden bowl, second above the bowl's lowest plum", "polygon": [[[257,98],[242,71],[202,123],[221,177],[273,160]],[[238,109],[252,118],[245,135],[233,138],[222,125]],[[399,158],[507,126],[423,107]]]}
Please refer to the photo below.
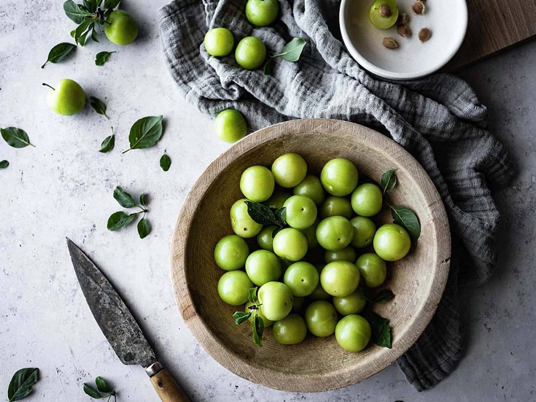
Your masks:
{"label": "large plum in wooden bowl, second above the bowl's lowest plum", "polygon": [[343,297],[354,292],[359,285],[359,270],[355,264],[338,260],[324,266],[320,283],[332,296]]}

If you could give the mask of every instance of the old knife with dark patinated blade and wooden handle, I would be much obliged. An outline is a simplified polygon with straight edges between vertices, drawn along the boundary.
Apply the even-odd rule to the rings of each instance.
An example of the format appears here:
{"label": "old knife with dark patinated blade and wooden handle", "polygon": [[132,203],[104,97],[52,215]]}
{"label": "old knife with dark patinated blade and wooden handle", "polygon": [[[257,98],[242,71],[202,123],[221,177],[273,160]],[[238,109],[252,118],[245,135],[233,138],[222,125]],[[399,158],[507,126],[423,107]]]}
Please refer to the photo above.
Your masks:
{"label": "old knife with dark patinated blade and wooden handle", "polygon": [[138,323],[108,279],[75,243],[67,239],[67,246],[87,304],[119,360],[144,367],[162,402],[189,402],[155,357]]}

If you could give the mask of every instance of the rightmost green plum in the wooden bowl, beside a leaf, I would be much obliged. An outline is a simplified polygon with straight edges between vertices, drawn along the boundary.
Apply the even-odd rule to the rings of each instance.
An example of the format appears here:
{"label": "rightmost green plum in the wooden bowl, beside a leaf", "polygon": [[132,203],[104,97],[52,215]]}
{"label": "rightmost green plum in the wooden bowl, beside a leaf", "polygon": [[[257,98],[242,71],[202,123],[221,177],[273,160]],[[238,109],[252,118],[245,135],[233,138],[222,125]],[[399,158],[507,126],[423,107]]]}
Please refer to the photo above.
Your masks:
{"label": "rightmost green plum in the wooden bowl, beside a leaf", "polygon": [[373,240],[374,251],[386,261],[404,258],[411,248],[410,235],[396,224],[385,224],[376,230]]}

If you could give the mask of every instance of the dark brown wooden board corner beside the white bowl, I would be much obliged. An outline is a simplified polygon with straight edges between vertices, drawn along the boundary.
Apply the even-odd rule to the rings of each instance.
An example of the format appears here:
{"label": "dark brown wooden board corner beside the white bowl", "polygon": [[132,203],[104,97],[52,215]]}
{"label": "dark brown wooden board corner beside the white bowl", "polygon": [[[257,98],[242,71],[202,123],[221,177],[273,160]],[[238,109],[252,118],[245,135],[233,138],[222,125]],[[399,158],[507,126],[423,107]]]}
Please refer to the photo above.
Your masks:
{"label": "dark brown wooden board corner beside the white bowl", "polygon": [[536,0],[467,0],[467,6],[467,35],[445,66],[447,71],[458,70],[536,35]]}

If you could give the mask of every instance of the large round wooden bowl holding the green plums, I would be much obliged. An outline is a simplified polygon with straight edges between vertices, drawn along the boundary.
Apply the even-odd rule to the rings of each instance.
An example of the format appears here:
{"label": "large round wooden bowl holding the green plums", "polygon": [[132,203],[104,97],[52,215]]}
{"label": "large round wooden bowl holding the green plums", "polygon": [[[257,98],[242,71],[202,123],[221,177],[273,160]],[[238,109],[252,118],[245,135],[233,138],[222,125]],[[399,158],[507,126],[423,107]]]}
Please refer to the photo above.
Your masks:
{"label": "large round wooden bowl holding the green plums", "polygon": [[[396,169],[399,184],[389,201],[410,207],[421,222],[421,237],[403,260],[390,264],[388,287],[394,299],[375,311],[392,326],[392,348],[371,346],[360,353],[344,351],[334,336],[310,334],[299,345],[279,345],[269,327],[264,346],[251,340],[247,324],[235,325],[218,296],[223,273],[214,263],[215,243],[231,234],[229,209],[242,194],[243,170],[270,167],[285,152],[306,159],[319,173],[325,162],[344,157],[360,174],[379,182]],[[419,337],[434,315],[449,273],[450,232],[443,203],[419,163],[398,144],[362,125],[329,119],[293,120],[258,130],[231,146],[201,175],[186,198],[171,244],[171,276],[184,322],[199,343],[233,373],[270,388],[326,391],[354,384],[389,366]]]}

